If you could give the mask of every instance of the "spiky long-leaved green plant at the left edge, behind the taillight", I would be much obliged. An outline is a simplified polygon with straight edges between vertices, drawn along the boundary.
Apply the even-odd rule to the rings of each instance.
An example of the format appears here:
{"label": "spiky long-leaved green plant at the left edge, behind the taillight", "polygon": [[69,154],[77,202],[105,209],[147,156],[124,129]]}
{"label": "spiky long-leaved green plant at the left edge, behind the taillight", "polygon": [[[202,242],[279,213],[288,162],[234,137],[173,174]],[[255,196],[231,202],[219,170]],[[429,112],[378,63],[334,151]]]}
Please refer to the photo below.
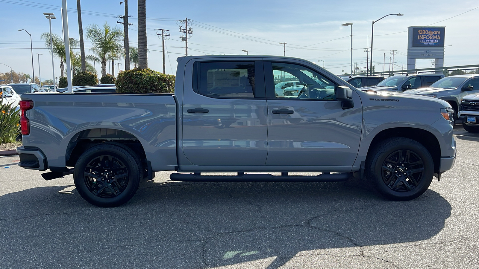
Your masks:
{"label": "spiky long-leaved green plant at the left edge, behind the taillight", "polygon": [[15,142],[20,134],[20,110],[0,100],[0,145]]}

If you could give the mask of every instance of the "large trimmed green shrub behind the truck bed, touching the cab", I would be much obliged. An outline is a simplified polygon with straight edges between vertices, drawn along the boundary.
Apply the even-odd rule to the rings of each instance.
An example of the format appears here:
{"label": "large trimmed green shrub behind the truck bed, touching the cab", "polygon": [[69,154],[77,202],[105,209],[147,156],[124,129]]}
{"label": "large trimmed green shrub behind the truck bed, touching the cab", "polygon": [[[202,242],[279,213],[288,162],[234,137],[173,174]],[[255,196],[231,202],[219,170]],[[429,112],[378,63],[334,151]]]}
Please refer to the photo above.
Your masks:
{"label": "large trimmed green shrub behind the truck bed, touching the cab", "polygon": [[116,92],[173,93],[175,76],[149,68],[122,71],[116,78]]}

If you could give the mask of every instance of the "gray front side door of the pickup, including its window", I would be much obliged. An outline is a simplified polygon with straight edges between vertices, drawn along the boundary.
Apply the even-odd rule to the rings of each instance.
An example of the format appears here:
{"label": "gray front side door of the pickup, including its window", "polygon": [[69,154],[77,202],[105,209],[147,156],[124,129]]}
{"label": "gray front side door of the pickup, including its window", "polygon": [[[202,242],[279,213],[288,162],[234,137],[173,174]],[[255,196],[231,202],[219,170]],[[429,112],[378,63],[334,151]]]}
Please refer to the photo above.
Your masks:
{"label": "gray front side door of the pickup, including its window", "polygon": [[[318,69],[294,62],[263,62],[268,101],[266,165],[345,166],[358,154],[362,107],[353,90],[354,108],[342,109],[335,84]],[[274,80],[306,85],[297,96],[274,96]]]}

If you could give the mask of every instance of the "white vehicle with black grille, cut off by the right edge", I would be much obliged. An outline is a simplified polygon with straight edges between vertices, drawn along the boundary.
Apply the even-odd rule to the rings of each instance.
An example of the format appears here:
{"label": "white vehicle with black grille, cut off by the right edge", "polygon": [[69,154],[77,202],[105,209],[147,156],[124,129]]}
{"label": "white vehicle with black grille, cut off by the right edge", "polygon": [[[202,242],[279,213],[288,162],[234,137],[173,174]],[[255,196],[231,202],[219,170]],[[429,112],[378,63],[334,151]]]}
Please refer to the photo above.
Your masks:
{"label": "white vehicle with black grille, cut off by the right edge", "polygon": [[464,130],[479,133],[479,93],[469,94],[462,98],[459,105],[459,120]]}

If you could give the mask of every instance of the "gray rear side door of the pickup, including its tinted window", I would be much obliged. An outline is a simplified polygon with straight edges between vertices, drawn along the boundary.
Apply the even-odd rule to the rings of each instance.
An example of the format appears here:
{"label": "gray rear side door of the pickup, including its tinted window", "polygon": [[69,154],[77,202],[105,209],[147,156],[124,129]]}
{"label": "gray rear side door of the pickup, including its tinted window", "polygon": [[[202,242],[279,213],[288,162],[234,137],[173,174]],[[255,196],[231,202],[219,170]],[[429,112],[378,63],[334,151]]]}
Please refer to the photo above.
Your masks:
{"label": "gray rear side door of the pickup, including its tinted window", "polygon": [[194,63],[193,85],[184,86],[181,110],[182,150],[193,165],[264,165],[268,123],[263,76],[262,61]]}

